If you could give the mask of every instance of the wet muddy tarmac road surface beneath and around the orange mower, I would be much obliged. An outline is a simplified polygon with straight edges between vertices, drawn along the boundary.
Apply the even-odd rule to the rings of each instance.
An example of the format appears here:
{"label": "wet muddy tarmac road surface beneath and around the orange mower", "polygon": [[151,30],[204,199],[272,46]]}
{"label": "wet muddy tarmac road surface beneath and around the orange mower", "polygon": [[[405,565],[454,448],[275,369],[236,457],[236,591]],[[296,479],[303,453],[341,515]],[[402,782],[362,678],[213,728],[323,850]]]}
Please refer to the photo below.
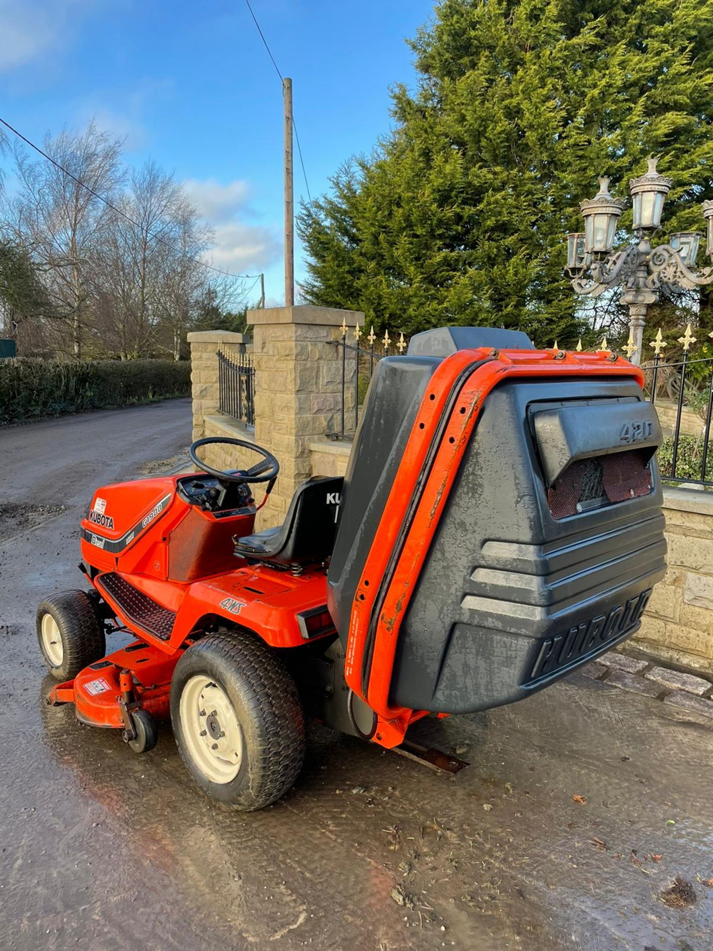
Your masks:
{"label": "wet muddy tarmac road surface beneath and around the orange mower", "polygon": [[92,490],[189,431],[184,400],[0,430],[3,951],[711,948],[713,729],[655,700],[576,674],[418,725],[471,762],[453,778],[315,726],[249,815],[202,798],[167,726],[136,756],[45,707],[35,606],[82,586]]}

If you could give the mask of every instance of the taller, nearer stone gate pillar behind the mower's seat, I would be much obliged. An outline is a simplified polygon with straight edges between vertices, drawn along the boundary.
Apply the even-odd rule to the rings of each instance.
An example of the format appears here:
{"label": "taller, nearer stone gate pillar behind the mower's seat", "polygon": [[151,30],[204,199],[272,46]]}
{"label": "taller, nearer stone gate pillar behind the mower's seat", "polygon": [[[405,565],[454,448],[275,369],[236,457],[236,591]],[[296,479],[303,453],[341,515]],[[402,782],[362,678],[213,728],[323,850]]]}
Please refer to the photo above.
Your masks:
{"label": "taller, nearer stone gate pillar behind the mower's seat", "polygon": [[[337,432],[341,414],[340,327],[363,326],[357,311],[273,307],[248,311],[255,362],[255,441],[279,459],[280,473],[260,526],[277,525],[300,482],[312,476],[310,443]],[[351,340],[350,336],[350,342]],[[347,409],[353,409],[354,362],[346,361]],[[351,386],[350,386],[351,383]]]}

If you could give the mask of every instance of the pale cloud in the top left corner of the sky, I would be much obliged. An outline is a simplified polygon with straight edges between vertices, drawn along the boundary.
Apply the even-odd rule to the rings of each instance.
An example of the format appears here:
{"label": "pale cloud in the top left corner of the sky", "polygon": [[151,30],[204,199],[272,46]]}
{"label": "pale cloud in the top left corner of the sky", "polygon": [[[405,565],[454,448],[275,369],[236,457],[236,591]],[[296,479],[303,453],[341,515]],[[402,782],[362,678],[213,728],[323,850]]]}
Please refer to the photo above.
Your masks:
{"label": "pale cloud in the top left corner of the sky", "polygon": [[67,47],[95,0],[0,0],[0,71],[25,66]]}

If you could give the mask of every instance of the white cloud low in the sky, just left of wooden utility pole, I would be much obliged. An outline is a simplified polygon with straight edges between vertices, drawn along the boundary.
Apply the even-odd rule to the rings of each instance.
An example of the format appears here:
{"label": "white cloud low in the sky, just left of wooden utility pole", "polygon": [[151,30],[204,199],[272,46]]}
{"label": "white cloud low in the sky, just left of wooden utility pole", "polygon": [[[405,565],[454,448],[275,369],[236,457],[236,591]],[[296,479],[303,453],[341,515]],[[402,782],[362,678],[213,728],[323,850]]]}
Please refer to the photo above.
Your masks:
{"label": "white cloud low in the sky, just left of wooden utility pole", "polygon": [[248,205],[251,188],[247,182],[235,179],[222,184],[215,178],[186,179],[183,189],[213,229],[213,247],[205,255],[207,262],[243,274],[264,271],[279,260],[282,245],[273,231],[262,224],[249,223],[255,216]]}

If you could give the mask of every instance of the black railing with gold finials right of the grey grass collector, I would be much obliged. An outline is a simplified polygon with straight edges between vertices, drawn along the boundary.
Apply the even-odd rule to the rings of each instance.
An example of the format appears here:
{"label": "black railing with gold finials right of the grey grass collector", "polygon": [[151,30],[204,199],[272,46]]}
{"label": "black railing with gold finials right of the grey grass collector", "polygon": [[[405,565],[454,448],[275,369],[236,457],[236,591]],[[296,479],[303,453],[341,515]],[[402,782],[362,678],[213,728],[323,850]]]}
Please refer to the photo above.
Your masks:
{"label": "black railing with gold finials right of the grey grass collector", "polygon": [[[709,335],[713,338],[713,334]],[[680,359],[665,360],[667,345],[661,336],[650,345],[654,358],[642,364],[648,398],[657,408],[664,430],[659,449],[659,469],[665,482],[690,483],[713,488],[713,346],[707,341],[691,351],[696,342],[686,328],[679,343]]]}

